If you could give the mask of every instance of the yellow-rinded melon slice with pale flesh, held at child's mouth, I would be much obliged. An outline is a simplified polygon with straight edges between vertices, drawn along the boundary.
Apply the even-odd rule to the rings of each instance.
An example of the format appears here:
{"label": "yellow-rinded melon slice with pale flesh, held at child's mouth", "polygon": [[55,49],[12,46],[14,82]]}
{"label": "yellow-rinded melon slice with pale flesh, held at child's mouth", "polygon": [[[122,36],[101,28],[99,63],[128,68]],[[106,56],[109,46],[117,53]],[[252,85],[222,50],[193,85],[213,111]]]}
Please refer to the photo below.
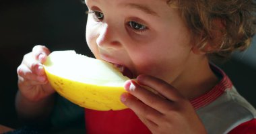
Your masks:
{"label": "yellow-rinded melon slice with pale flesh, held at child's mouth", "polygon": [[44,62],[46,76],[55,90],[71,102],[98,111],[126,109],[120,96],[128,77],[108,62],[75,51],[52,52]]}

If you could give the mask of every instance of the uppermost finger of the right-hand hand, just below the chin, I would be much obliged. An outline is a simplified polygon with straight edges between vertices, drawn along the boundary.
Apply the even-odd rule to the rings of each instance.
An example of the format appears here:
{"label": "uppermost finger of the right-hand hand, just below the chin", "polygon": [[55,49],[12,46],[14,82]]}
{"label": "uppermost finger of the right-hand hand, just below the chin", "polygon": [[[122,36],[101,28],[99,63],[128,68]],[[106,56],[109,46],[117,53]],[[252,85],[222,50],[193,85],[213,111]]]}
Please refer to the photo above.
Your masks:
{"label": "uppermost finger of the right-hand hand, just below the chin", "polygon": [[164,82],[163,80],[160,80],[159,78],[143,74],[137,77],[137,82],[156,90],[156,92],[159,92],[162,96],[169,100],[177,101],[183,98],[183,96],[173,86],[167,82]]}

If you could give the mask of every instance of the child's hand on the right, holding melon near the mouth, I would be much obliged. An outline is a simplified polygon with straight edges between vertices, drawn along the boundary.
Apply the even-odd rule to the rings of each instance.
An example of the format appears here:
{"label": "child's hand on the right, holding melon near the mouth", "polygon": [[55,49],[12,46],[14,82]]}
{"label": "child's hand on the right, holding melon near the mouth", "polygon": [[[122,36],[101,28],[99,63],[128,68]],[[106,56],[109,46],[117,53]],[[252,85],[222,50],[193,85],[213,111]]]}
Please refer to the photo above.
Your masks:
{"label": "child's hand on the right, holding melon near the mouth", "polygon": [[[137,82],[125,83],[130,94],[122,94],[121,100],[152,133],[206,133],[189,100],[170,84],[147,75],[138,76]],[[140,85],[156,90],[161,96]]]}

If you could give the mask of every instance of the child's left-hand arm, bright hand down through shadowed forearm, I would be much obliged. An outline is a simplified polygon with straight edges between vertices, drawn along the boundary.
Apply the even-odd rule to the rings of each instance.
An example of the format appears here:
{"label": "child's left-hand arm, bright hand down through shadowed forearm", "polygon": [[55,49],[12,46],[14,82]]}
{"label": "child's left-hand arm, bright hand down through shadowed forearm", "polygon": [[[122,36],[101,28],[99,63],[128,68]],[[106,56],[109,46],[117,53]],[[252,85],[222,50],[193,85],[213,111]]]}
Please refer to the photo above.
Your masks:
{"label": "child's left-hand arm, bright hand down through shadowed forearm", "polygon": [[17,69],[19,90],[15,107],[19,117],[29,123],[47,121],[53,109],[55,90],[47,81],[42,67],[49,54],[46,47],[35,46]]}

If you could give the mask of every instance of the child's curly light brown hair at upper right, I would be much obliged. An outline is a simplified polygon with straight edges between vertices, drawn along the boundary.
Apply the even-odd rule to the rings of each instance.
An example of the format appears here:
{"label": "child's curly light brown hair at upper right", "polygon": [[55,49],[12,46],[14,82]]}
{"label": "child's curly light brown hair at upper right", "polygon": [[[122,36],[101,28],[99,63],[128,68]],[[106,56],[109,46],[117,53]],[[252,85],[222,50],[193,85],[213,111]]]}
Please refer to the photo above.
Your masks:
{"label": "child's curly light brown hair at upper right", "polygon": [[[168,0],[180,10],[193,42],[209,58],[245,50],[256,31],[255,0]],[[205,49],[210,45],[211,50]],[[210,59],[211,60],[211,59]]]}

